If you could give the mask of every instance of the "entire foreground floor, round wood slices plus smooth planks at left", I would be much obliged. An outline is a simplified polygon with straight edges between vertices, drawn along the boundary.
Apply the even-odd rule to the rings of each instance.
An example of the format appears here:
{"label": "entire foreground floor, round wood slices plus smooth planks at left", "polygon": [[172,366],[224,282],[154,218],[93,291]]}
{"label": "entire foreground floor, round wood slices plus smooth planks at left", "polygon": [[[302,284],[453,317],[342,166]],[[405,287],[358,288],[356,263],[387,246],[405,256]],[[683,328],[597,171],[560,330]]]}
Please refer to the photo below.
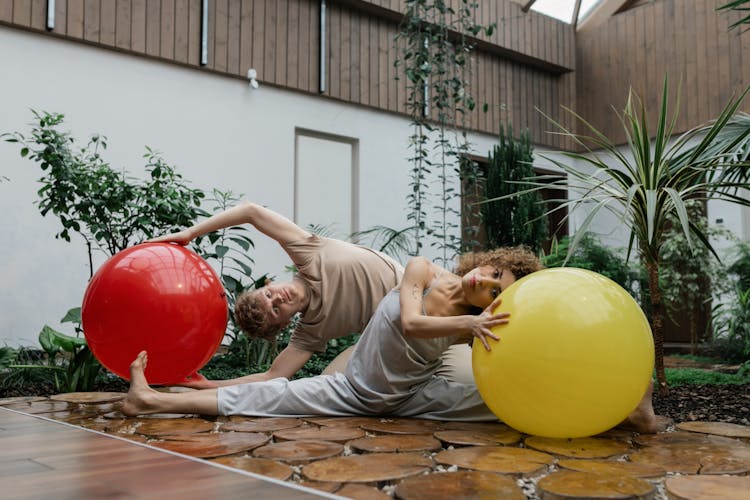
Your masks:
{"label": "entire foreground floor, round wood slices plus smooth planks at left", "polygon": [[545,439],[404,418],[126,418],[123,396],[0,400],[0,498],[750,500],[749,426]]}

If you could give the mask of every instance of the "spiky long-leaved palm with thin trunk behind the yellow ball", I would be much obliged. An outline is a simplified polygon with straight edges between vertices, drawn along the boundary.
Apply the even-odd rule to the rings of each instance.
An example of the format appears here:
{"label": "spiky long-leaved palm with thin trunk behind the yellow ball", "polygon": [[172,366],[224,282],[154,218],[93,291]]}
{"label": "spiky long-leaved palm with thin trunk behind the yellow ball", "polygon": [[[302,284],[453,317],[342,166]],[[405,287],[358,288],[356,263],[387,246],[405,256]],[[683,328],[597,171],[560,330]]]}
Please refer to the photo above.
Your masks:
{"label": "spiky long-leaved palm with thin trunk behind the yellow ball", "polygon": [[[575,194],[569,199],[559,200],[561,205],[552,210],[567,209],[568,216],[576,209],[585,207],[587,214],[571,241],[570,252],[602,211],[614,214],[624,227],[630,228],[628,255],[636,248],[648,271],[656,373],[659,391],[664,395],[668,393],[668,388],[664,375],[664,311],[659,290],[659,250],[664,242],[667,220],[670,216],[676,216],[691,248],[697,240],[698,244],[705,245],[716,255],[706,235],[688,217],[686,203],[689,200],[721,199],[750,206],[750,201],[738,195],[738,189],[748,187],[750,118],[735,115],[750,88],[731,100],[719,118],[674,140],[672,133],[678,112],[669,117],[667,88],[665,78],[653,143],[647,111],[632,90],[623,113],[617,113],[627,137],[627,145],[623,148],[616,146],[570,109],[566,111],[575,117],[579,130],[583,132],[573,132],[547,116],[558,129],[555,133],[572,139],[582,152],[540,155],[567,177],[536,176],[529,180],[531,187],[526,190],[552,188]],[[679,106],[675,106],[675,109],[679,109]],[[574,161],[569,163],[566,158]],[[583,171],[579,167],[581,164],[593,167],[593,172]]]}

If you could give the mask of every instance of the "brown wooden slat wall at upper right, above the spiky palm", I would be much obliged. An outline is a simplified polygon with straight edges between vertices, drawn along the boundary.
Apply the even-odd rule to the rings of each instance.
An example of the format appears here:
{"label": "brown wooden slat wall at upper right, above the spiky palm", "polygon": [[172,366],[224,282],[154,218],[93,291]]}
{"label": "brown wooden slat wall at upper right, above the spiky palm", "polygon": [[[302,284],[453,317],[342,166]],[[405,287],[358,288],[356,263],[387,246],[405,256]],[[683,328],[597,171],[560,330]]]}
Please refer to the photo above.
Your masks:
{"label": "brown wooden slat wall at upper right, above the spiky palm", "polygon": [[[617,143],[625,141],[612,110],[622,110],[633,88],[655,124],[664,75],[674,103],[675,132],[716,118],[732,94],[750,85],[750,33],[729,31],[737,14],[716,12],[724,0],[655,0],[578,33],[578,111]],[[744,110],[750,111],[750,100]]]}

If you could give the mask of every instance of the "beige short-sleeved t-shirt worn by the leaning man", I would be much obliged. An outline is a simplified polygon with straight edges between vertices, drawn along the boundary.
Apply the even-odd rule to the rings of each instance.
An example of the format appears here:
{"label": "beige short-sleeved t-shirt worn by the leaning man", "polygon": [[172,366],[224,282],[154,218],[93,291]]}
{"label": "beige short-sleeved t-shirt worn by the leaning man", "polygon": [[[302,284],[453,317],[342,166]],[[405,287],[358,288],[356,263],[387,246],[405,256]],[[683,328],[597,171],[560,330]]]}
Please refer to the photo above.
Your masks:
{"label": "beige short-sleeved t-shirt worn by the leaning man", "polygon": [[335,338],[364,331],[380,300],[404,274],[385,254],[353,243],[312,235],[284,246],[308,288],[310,303],[289,344],[324,351]]}

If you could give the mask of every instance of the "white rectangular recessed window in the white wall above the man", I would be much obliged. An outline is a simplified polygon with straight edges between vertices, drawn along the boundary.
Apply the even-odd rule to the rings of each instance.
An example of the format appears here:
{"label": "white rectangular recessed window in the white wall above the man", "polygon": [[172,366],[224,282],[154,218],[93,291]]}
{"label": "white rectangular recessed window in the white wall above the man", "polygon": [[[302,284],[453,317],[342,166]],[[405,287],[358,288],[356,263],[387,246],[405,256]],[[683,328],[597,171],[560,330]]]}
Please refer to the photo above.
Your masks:
{"label": "white rectangular recessed window in the white wall above the man", "polygon": [[346,238],[358,229],[357,139],[297,129],[294,220]]}

